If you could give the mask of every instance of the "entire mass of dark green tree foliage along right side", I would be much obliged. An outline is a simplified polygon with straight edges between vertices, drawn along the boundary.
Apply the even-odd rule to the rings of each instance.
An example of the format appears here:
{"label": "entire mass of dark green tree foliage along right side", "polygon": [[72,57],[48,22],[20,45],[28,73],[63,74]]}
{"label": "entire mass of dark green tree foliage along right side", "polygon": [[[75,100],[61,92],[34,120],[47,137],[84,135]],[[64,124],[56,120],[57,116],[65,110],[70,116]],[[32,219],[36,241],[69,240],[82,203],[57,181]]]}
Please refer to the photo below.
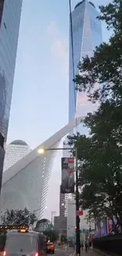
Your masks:
{"label": "entire mass of dark green tree foliage along right side", "polygon": [[76,76],[76,90],[85,91],[99,107],[83,120],[89,136],[68,139],[78,147],[80,204],[93,217],[113,221],[115,216],[122,231],[122,2],[113,0],[100,10],[98,19],[113,35],[96,47],[92,58],[83,58]]}

